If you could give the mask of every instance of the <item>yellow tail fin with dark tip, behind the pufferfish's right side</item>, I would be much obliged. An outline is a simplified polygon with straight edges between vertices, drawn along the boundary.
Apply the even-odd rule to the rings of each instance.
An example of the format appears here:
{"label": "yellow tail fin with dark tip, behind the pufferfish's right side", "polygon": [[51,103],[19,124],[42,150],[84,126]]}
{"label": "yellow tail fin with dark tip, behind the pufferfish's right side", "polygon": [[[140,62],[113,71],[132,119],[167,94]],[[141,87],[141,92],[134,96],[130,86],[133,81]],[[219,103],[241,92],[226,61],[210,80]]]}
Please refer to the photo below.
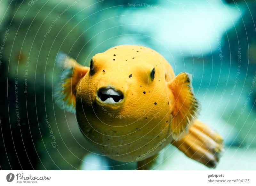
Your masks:
{"label": "yellow tail fin with dark tip, behind the pufferfish's right side", "polygon": [[214,168],[224,152],[221,136],[204,123],[196,120],[188,130],[188,135],[172,144],[186,156],[207,167]]}

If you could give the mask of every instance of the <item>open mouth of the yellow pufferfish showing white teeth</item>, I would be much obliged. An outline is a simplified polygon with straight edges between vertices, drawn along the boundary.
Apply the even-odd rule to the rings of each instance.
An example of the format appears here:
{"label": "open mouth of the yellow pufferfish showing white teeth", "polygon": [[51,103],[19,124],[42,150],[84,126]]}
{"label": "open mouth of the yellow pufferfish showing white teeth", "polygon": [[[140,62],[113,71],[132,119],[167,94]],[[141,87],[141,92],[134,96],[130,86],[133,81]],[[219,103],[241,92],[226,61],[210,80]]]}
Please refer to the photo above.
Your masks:
{"label": "open mouth of the yellow pufferfish showing white teeth", "polygon": [[97,96],[101,102],[107,104],[115,104],[121,102],[124,99],[122,92],[112,87],[100,88],[98,90]]}

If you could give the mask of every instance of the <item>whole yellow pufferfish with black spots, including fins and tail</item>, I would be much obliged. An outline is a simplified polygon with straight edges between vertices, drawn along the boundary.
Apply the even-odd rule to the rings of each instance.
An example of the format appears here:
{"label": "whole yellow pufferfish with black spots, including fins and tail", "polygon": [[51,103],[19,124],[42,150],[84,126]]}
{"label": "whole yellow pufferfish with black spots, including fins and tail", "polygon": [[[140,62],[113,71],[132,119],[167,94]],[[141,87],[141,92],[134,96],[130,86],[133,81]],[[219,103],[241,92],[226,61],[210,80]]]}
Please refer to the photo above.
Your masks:
{"label": "whole yellow pufferfish with black spots, including fins and tail", "polygon": [[85,138],[101,154],[150,169],[169,143],[215,167],[223,151],[218,133],[197,120],[198,101],[188,73],[175,76],[155,50],[121,45],[92,57],[90,67],[58,55],[56,103],[76,112]]}

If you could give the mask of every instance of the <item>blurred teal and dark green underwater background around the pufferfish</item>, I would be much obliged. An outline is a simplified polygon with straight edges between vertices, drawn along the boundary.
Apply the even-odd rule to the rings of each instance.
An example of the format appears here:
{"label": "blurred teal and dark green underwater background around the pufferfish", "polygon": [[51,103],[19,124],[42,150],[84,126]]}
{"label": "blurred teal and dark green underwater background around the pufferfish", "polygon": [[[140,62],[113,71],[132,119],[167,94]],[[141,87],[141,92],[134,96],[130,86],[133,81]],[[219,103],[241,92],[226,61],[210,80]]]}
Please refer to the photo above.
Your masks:
{"label": "blurred teal and dark green underwater background around the pufferfish", "polygon": [[[134,170],[99,154],[53,100],[56,55],[89,66],[116,45],[150,47],[193,74],[199,120],[224,138],[217,170],[256,170],[254,0],[0,2],[0,169]],[[154,170],[207,170],[174,146]]]}

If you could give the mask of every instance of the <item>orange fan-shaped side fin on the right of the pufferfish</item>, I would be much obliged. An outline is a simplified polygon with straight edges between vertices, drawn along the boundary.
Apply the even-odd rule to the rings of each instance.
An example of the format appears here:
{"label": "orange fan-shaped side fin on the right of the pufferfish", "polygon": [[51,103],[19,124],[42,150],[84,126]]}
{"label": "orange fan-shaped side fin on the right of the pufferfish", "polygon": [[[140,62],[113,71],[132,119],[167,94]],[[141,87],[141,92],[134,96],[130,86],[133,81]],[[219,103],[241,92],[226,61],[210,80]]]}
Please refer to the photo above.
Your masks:
{"label": "orange fan-shaped side fin on the right of the pufferfish", "polygon": [[179,140],[188,133],[188,126],[197,118],[198,102],[194,96],[190,74],[180,73],[168,82],[174,96],[172,111],[172,137]]}

